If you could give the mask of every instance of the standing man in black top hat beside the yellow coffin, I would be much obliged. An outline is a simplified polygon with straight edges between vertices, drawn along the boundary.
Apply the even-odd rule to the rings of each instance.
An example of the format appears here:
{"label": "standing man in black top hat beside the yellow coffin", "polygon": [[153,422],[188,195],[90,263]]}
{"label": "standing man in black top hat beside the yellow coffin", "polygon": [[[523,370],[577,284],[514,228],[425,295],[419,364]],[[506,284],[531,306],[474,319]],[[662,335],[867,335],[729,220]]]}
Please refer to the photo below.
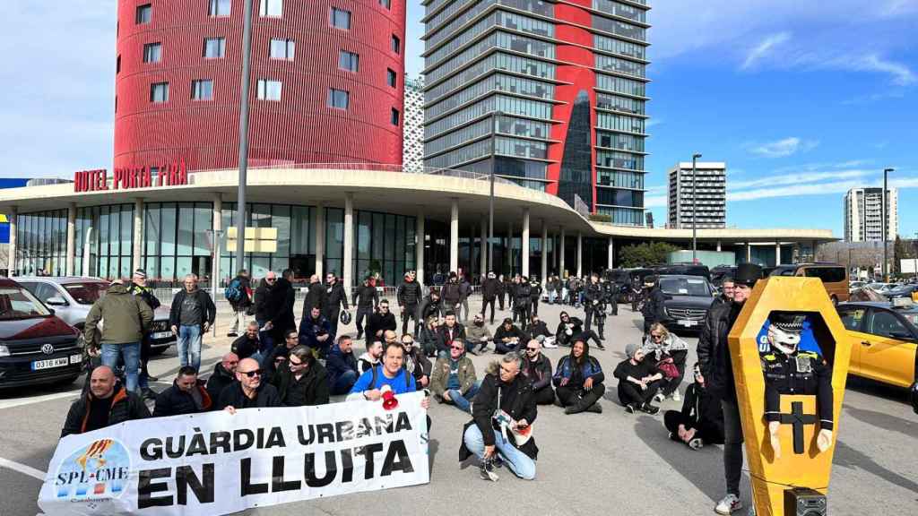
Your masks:
{"label": "standing man in black top hat beside the yellow coffin", "polygon": [[730,514],[743,507],[739,498],[740,477],[743,474],[743,428],[740,425],[727,335],[752,293],[752,287],[761,277],[762,269],[758,265],[739,264],[736,267],[733,301],[712,306],[708,310],[698,340],[701,376],[704,376],[711,396],[721,399],[723,409],[723,468],[727,494],[714,509],[720,514]]}

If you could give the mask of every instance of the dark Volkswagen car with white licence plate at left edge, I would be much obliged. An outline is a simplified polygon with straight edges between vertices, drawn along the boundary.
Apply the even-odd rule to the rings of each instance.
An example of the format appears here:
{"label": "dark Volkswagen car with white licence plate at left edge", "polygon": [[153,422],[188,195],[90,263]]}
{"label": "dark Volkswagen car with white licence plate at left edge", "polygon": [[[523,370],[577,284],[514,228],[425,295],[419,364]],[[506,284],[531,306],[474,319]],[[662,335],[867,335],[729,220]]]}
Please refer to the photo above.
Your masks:
{"label": "dark Volkswagen car with white licence plate at left edge", "polygon": [[71,383],[83,336],[17,282],[0,278],[0,388]]}

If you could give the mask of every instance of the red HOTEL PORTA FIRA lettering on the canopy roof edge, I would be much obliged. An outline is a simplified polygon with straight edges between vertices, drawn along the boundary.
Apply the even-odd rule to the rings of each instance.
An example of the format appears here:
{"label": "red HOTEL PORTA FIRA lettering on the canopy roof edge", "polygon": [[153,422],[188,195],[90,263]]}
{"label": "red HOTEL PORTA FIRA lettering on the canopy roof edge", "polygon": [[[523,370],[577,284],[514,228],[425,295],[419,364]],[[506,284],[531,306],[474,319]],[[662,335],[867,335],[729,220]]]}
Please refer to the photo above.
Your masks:
{"label": "red HOTEL PORTA FIRA lettering on the canopy roof edge", "polygon": [[73,191],[77,193],[187,184],[188,171],[185,169],[185,160],[159,167],[116,168],[110,183],[106,169],[84,170],[73,173]]}

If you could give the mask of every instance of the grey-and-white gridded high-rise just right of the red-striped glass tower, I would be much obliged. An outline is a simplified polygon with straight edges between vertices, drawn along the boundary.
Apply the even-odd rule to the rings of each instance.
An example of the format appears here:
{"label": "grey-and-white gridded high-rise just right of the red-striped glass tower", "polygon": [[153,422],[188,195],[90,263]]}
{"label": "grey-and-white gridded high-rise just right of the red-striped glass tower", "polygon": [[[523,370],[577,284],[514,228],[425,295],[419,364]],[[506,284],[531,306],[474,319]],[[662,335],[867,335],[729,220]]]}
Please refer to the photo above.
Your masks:
{"label": "grey-and-white gridded high-rise just right of the red-striped glass tower", "polygon": [[726,228],[727,163],[696,163],[695,173],[693,178],[691,162],[678,163],[669,171],[669,227],[691,228],[696,224],[704,229]]}

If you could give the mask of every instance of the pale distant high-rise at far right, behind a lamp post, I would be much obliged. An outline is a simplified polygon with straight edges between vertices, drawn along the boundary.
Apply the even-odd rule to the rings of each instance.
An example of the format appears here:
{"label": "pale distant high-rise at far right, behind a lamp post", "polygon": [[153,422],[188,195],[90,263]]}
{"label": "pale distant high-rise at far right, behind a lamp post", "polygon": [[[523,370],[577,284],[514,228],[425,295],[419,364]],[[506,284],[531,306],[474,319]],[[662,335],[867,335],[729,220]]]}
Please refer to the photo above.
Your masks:
{"label": "pale distant high-rise at far right, behind a lamp post", "polygon": [[[852,188],[845,195],[845,241],[883,241],[883,188]],[[899,234],[899,191],[887,190],[887,240]]]}

